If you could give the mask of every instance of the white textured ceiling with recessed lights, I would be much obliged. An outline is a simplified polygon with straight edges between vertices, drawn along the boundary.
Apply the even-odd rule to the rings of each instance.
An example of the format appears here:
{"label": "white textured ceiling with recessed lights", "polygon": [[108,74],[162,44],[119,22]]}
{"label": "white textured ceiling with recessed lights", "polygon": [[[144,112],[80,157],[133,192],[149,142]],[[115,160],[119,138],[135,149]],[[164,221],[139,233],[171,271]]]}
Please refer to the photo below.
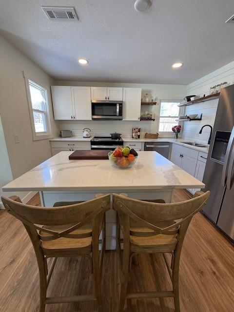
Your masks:
{"label": "white textured ceiling with recessed lights", "polygon": [[[0,0],[0,34],[56,79],[188,84],[234,60],[234,0],[152,0],[143,13],[134,2]],[[42,5],[79,20],[48,20]]]}

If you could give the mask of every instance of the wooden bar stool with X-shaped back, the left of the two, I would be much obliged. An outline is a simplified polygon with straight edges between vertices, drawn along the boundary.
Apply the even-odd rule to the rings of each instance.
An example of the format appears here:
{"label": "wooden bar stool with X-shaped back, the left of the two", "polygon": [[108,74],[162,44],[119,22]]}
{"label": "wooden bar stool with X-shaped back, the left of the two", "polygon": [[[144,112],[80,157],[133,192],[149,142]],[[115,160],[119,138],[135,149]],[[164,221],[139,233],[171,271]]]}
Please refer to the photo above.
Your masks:
{"label": "wooden bar stool with X-shaped back, the left of the two", "polygon": [[[110,208],[110,195],[62,207],[35,207],[22,204],[20,198],[1,197],[7,212],[19,219],[31,241],[37,257],[40,280],[40,308],[46,304],[97,300],[98,311],[103,311],[101,268],[105,251],[105,234],[99,256],[99,234],[104,228],[105,212]],[[58,257],[86,256],[94,273],[95,295],[47,297],[47,287]],[[47,259],[54,257],[48,272]]]}

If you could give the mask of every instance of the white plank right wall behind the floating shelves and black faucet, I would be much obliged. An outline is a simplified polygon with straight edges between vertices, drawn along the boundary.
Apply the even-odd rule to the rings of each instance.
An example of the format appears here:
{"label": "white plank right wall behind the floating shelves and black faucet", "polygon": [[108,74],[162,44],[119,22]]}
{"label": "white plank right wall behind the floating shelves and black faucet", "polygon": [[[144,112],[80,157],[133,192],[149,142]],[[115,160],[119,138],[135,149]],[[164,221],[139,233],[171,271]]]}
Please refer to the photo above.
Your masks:
{"label": "white plank right wall behind the floating shelves and black faucet", "polygon": [[[229,84],[234,83],[234,61],[190,83],[187,86],[187,95],[200,97],[203,97],[204,94],[209,95],[210,87],[224,81],[227,81]],[[201,135],[199,135],[199,131],[205,124],[214,126],[217,105],[218,99],[214,99],[186,106],[186,115],[200,115],[201,113],[203,115],[201,121],[184,121],[181,123],[183,126],[183,137],[207,144],[210,136],[209,127],[205,127]]]}

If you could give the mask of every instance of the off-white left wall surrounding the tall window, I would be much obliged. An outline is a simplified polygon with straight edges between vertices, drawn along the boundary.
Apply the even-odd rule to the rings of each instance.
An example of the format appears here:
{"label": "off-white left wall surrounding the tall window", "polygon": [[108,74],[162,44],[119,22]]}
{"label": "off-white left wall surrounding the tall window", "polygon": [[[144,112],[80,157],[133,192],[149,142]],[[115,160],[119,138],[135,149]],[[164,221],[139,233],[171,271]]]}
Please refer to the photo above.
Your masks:
{"label": "off-white left wall surrounding the tall window", "polygon": [[[27,77],[47,87],[53,133],[58,129],[53,119],[50,85],[53,80],[35,63],[0,36],[0,116],[13,178],[51,156],[49,140],[33,141],[23,71]],[[14,135],[20,137],[15,143]]]}

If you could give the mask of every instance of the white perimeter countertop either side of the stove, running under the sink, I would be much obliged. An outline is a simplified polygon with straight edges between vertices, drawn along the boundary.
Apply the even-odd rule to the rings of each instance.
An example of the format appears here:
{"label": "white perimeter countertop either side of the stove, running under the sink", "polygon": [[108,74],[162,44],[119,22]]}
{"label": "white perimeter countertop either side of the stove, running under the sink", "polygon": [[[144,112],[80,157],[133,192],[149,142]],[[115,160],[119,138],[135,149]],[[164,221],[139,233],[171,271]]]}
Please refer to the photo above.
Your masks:
{"label": "white perimeter countertop either side of the stove, running under the sink", "polygon": [[[90,142],[93,137],[55,137],[51,138],[50,141],[76,141],[76,142]],[[194,142],[191,140],[186,140],[184,138],[170,138],[170,137],[159,137],[159,138],[138,138],[134,139],[132,137],[122,137],[124,142],[169,142],[182,145],[191,149],[194,149],[199,152],[208,153],[209,146],[207,147],[198,147],[183,142]]]}

